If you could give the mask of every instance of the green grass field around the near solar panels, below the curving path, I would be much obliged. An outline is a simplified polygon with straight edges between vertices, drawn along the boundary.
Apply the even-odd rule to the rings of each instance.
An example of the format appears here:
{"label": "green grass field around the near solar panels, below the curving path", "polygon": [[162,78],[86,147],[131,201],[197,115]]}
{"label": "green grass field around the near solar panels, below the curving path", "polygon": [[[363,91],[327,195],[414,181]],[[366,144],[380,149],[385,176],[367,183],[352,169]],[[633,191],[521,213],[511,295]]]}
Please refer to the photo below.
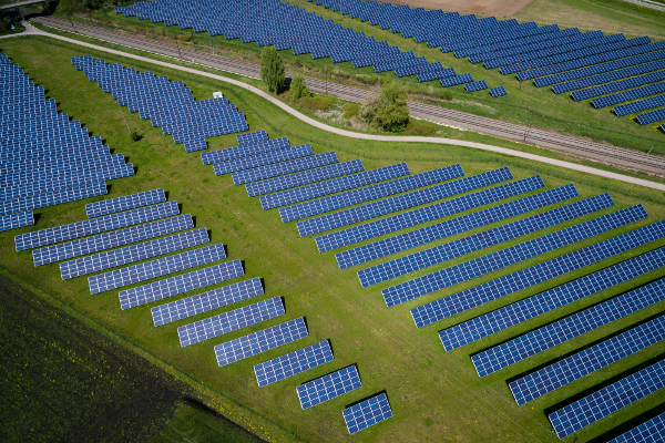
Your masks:
{"label": "green grass field around the near solar panels, below the curving path", "polygon": [[[129,162],[137,166],[135,176],[111,182],[111,190],[105,198],[164,187],[170,194],[170,199],[177,200],[183,205],[184,214],[191,213],[196,217],[198,227],[206,227],[211,230],[213,243],[222,241],[227,245],[229,259],[245,260],[247,278],[263,277],[265,279],[267,297],[284,297],[287,309],[286,319],[306,317],[309,337],[221,369],[216,365],[213,354],[215,344],[279,323],[285,319],[274,319],[265,324],[260,323],[228,333],[223,338],[181,349],[176,328],[186,322],[205,318],[206,315],[154,328],[150,316],[150,308],[153,305],[121,311],[115,291],[90,296],[85,278],[63,282],[57,265],[34,268],[30,253],[17,254],[13,250],[13,236],[17,234],[84,219],[83,203],[40,209],[38,213],[41,217],[37,226],[0,234],[0,265],[21,278],[34,282],[82,315],[109,328],[114,334],[126,338],[136,347],[146,350],[151,360],[158,362],[170,373],[187,382],[205,404],[265,440],[316,442],[485,442],[488,439],[497,442],[556,441],[543,413],[544,410],[569,401],[580,392],[592,389],[598,383],[620,374],[630,373],[636,365],[661,356],[665,350],[665,344],[651,347],[606,370],[582,379],[523,408],[516,408],[508,390],[507,380],[573,349],[622,330],[634,322],[649,318],[661,312],[665,306],[658,305],[637,312],[627,319],[608,324],[594,333],[585,334],[565,346],[543,352],[536,358],[482,380],[478,379],[474,373],[469,359],[470,353],[552,321],[565,313],[576,311],[584,306],[596,303],[630,289],[632,286],[662,277],[665,275],[665,270],[652,272],[632,281],[631,285],[623,285],[595,295],[571,307],[454,352],[443,352],[436,331],[505,302],[601,269],[632,255],[663,246],[665,240],[572,272],[565,278],[548,281],[531,290],[515,293],[505,300],[475,309],[472,313],[416,330],[409,315],[410,308],[534,265],[542,261],[543,258],[528,260],[484,278],[474,279],[423,299],[388,309],[381,299],[380,289],[389,285],[360,289],[355,275],[356,268],[339,271],[332,253],[318,254],[314,240],[298,237],[294,224],[282,224],[276,212],[262,210],[257,199],[247,198],[243,187],[232,185],[231,177],[215,177],[212,168],[201,164],[197,154],[186,154],[182,145],[174,145],[172,138],[162,135],[160,128],[153,128],[150,122],[140,121],[136,114],[129,114],[125,109],[130,125],[144,134],[140,142],[132,143],[117,104],[111,94],[104,94],[96,84],[89,82],[83,73],[76,72],[70,63],[70,58],[92,54],[95,58],[103,58],[108,62],[123,62],[126,66],[136,66],[139,70],[153,70],[156,74],[168,75],[171,80],[183,80],[192,89],[196,99],[211,97],[213,91],[221,90],[232,103],[236,103],[246,113],[252,131],[267,130],[270,137],[286,135],[291,145],[307,143],[309,140],[325,140],[327,141],[325,145],[324,143],[313,143],[316,153],[336,151],[340,161],[360,157],[367,169],[408,162],[411,172],[419,173],[461,163],[467,175],[473,175],[508,165],[515,178],[541,174],[550,188],[574,182],[582,197],[610,192],[616,202],[616,208],[642,203],[651,217],[647,222],[635,224],[635,226],[664,218],[665,195],[663,193],[457,146],[386,144],[337,138],[293,120],[278,111],[276,106],[243,90],[195,75],[154,69],[153,65],[125,61],[105,53],[83,51],[64,43],[17,38],[4,40],[2,49],[12,59],[12,62],[19,63],[25,70],[35,84],[44,85],[44,89],[49,91],[48,96],[54,97],[59,103],[60,111],[68,112],[72,119],[83,122],[93,135],[100,135],[115,153],[124,153],[129,157]],[[233,135],[209,140],[211,150],[233,145],[235,145]],[[602,214],[608,212],[605,210]],[[575,222],[592,217],[584,217]],[[575,222],[546,229],[541,234],[573,225]],[[550,256],[561,255],[602,238],[608,238],[635,226],[594,237],[587,241],[556,250]],[[472,230],[467,235],[478,230]],[[460,237],[462,236],[454,236],[446,241]],[[472,254],[459,260],[452,260],[444,266],[429,268],[428,271],[449,267],[452,264],[466,261],[522,240],[524,238]],[[441,243],[444,241],[438,244]],[[418,275],[420,274],[423,272]],[[409,278],[412,277],[413,275],[409,276]],[[390,285],[406,279],[393,280]],[[331,340],[335,362],[264,389],[257,388],[253,374],[254,364],[324,339]],[[364,384],[361,389],[310,410],[300,410],[295,393],[296,385],[352,363],[358,365]],[[341,409],[382,390],[386,390],[388,394],[395,418],[352,437],[349,436],[344,426]],[[631,423],[634,425],[636,418],[641,414],[653,413],[664,400],[665,393],[663,392],[651,395],[566,441],[589,441],[597,436],[607,436],[607,432],[617,425],[630,425]],[[173,423],[177,423],[177,421]],[[174,424],[174,429],[181,429],[178,426],[178,424]]]}

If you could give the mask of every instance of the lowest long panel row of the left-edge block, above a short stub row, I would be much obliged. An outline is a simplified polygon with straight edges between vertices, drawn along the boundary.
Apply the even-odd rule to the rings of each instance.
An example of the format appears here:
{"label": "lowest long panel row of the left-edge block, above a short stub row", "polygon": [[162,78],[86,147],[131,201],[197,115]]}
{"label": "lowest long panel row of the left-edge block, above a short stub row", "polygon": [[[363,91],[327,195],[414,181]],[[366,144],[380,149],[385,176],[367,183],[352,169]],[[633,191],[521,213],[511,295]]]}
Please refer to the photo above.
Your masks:
{"label": "lowest long panel row of the left-edge block, above a short stub row", "polygon": [[0,216],[96,197],[106,194],[106,184],[100,182],[44,194],[13,198],[0,202]]}

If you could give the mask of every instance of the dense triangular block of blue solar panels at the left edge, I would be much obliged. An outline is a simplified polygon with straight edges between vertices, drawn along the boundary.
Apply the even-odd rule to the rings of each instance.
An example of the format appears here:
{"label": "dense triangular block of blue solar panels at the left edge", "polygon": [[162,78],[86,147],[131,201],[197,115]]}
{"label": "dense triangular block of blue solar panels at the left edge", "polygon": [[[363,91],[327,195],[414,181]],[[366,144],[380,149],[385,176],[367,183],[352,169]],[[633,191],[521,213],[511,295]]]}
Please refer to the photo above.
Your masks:
{"label": "dense triangular block of blue solar panels at the left edge", "polygon": [[[134,174],[122,154],[111,155],[100,136],[58,113],[43,86],[0,54],[0,216],[106,194],[104,181]],[[3,218],[3,230],[25,216]]]}

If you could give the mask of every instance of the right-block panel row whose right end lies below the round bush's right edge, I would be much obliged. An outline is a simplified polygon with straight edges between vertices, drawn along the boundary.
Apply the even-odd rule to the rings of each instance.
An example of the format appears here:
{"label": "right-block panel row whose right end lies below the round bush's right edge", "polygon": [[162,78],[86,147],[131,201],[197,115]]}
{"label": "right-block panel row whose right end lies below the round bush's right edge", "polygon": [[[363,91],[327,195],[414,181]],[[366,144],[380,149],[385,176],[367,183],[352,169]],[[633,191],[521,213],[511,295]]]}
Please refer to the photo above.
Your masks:
{"label": "right-block panel row whose right end lies below the round bush's right edge", "polygon": [[389,178],[402,177],[409,174],[409,167],[406,163],[385,166],[378,169],[349,175],[348,177],[340,177],[327,182],[315,183],[313,185],[303,186],[296,189],[262,196],[260,206],[264,209],[286,206],[293,203],[308,200],[316,197],[323,197],[325,195],[340,193],[360,186],[383,182]]}

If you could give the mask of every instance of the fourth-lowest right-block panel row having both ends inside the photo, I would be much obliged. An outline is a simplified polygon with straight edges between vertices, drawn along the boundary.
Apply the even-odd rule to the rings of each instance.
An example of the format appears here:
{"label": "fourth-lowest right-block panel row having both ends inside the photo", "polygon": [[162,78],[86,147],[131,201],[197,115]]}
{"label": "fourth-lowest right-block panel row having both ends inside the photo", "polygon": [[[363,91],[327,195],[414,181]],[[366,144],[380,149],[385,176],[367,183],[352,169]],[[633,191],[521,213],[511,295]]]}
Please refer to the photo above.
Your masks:
{"label": "fourth-lowest right-block panel row having both ends inside the photo", "polygon": [[[545,187],[545,184],[542,178],[536,175],[534,177],[483,189],[468,196],[437,203],[431,206],[409,210],[407,213],[316,237],[316,244],[319,253],[324,253],[326,250],[352,245],[368,238],[379,237],[385,234],[432,222],[437,218],[443,218],[452,214],[498,202],[502,198],[529,193],[542,187]],[[574,187],[572,189],[574,190]],[[576,193],[576,190],[574,192]]]}

